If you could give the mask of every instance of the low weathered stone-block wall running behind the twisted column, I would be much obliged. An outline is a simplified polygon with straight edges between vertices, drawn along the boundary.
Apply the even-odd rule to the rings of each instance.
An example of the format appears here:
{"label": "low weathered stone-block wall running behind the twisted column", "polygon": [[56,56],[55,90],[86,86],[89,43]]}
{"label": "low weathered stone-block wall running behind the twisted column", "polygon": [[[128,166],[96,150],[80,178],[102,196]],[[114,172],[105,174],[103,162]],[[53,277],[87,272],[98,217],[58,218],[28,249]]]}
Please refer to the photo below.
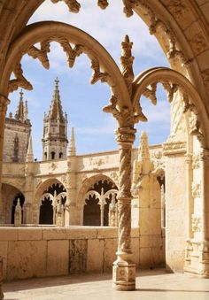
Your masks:
{"label": "low weathered stone-block wall running behind the twisted column", "polygon": [[[143,253],[146,253],[146,245],[143,248]],[[116,250],[116,227],[0,228],[0,257],[4,260],[4,280],[8,281],[70,273],[112,272]],[[138,228],[132,229],[132,250],[136,267],[139,267],[143,257],[140,262]],[[159,254],[155,253],[155,256],[158,258]],[[155,265],[159,262],[156,261]]]}

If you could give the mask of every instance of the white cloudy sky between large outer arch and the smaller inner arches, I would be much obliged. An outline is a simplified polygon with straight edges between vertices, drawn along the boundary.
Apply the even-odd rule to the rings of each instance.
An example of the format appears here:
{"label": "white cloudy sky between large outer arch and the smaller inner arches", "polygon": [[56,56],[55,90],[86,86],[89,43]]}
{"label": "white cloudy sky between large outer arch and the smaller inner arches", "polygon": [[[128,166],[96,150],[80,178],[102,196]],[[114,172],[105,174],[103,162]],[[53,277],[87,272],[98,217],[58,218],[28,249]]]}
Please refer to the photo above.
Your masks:
{"label": "white cloudy sky between large outer arch and the smaller inner arches", "polygon": [[[64,2],[52,4],[50,0],[47,0],[35,12],[29,23],[54,19],[79,27],[102,43],[118,63],[120,43],[124,36],[128,34],[131,41],[134,42],[133,55],[135,57],[141,54],[145,55],[146,58],[156,60],[156,57],[160,56],[161,62],[165,65],[166,59],[163,52],[159,50],[158,42],[154,36],[149,34],[148,27],[142,19],[136,15],[128,19],[122,10],[123,5],[120,0],[112,1],[105,11],[97,7],[97,1],[85,0],[81,1],[81,12],[74,14],[68,12]],[[53,54],[52,58],[59,61],[60,58],[63,58],[63,55],[60,54],[58,48],[55,48],[55,51],[56,55]],[[140,62],[140,65],[142,65],[142,62]]]}

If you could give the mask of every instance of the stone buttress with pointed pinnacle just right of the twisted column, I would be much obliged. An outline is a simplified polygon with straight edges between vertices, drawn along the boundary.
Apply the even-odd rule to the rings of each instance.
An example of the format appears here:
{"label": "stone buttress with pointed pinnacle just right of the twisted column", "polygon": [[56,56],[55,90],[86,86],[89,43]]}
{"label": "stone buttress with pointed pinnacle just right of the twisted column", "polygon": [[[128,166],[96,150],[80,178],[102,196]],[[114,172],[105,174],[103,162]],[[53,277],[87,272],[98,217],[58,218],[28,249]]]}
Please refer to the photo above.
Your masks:
{"label": "stone buttress with pointed pinnacle just right of the twisted column", "polygon": [[[160,151],[155,151],[159,155]],[[163,173],[163,174],[162,174]],[[151,160],[148,137],[141,135],[132,181],[132,226],[140,228],[140,266],[165,262],[164,224],[161,219],[161,192],[158,175],[165,176],[164,161]],[[164,189],[164,181],[162,188]],[[164,211],[164,208],[162,207]],[[164,212],[163,212],[164,213]]]}

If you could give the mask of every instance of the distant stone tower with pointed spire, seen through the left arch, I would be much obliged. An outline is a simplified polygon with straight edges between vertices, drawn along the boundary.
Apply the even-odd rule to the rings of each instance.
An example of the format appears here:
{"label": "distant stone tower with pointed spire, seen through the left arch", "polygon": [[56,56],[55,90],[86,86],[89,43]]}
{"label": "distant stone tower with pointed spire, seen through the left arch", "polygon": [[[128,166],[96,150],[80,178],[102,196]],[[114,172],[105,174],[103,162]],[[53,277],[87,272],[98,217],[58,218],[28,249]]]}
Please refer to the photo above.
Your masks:
{"label": "distant stone tower with pointed spire, seen through the left arch", "polygon": [[43,119],[43,160],[66,158],[67,116],[62,110],[58,82],[57,78],[50,111]]}

